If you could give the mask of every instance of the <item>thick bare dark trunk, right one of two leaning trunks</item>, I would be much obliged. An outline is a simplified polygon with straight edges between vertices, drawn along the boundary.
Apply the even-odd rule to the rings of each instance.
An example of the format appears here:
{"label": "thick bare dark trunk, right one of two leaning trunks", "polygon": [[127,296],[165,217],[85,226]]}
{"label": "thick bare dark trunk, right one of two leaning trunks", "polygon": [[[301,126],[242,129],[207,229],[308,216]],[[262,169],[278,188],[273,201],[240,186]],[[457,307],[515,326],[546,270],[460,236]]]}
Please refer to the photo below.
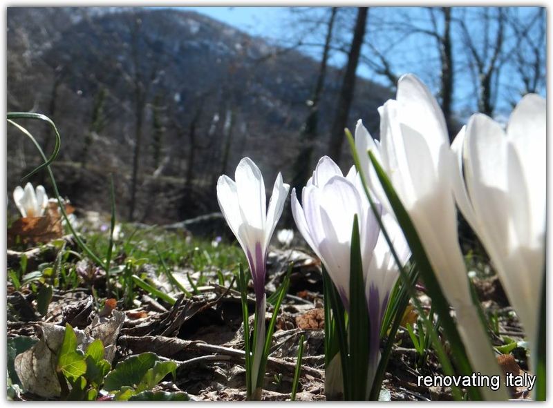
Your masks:
{"label": "thick bare dark trunk, right one of two leaning trunks", "polygon": [[355,30],[353,40],[351,41],[350,51],[348,52],[348,64],[344,79],[342,80],[340,95],[336,108],[336,115],[332,128],[330,129],[330,144],[328,153],[332,159],[339,164],[341,156],[341,146],[344,144],[344,128],[348,124],[348,116],[353,101],[353,91],[355,90],[355,72],[359,62],[359,54],[365,37],[365,26],[367,21],[368,8],[359,7],[357,9],[357,21],[355,21]]}

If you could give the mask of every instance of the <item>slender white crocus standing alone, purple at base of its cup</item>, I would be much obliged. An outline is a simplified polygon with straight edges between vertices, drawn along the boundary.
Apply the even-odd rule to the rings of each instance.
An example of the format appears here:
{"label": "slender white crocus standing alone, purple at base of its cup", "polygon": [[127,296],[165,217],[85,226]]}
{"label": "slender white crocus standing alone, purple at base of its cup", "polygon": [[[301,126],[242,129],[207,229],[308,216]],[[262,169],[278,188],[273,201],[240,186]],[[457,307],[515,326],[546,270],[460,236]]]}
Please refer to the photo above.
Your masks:
{"label": "slender white crocus standing alone, purple at base of its cup", "polygon": [[282,175],[279,173],[267,207],[263,176],[252,159],[249,157],[241,159],[236,167],[234,179],[235,181],[227,175],[219,177],[217,200],[227,224],[246,255],[250,271],[252,271],[258,313],[258,327],[256,328],[258,342],[252,364],[252,380],[255,382],[265,342],[266,298],[264,288],[267,249],[274,228],[281,217],[290,186],[283,183]]}

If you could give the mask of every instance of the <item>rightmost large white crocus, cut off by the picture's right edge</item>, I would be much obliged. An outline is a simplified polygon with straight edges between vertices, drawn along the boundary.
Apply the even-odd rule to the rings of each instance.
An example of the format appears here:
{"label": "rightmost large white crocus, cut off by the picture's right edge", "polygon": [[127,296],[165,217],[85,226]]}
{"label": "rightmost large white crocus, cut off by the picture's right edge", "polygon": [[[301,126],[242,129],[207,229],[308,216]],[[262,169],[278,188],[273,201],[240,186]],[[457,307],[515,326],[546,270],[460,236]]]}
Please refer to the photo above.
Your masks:
{"label": "rightmost large white crocus, cut off by the picture's right edge", "polygon": [[477,114],[453,142],[456,200],[496,266],[533,357],[545,283],[545,115],[545,99],[526,95],[506,132]]}

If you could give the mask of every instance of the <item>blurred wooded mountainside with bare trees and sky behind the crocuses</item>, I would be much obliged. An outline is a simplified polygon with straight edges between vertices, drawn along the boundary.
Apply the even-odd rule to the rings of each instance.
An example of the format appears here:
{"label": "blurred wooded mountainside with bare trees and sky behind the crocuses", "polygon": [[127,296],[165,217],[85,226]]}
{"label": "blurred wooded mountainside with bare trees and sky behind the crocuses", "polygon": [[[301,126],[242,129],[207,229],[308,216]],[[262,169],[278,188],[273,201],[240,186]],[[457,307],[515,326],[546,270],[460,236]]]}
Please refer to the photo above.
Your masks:
{"label": "blurred wooded mountainside with bare trees and sky behind the crocuses", "polygon": [[[361,118],[377,137],[406,72],[450,137],[471,113],[505,122],[525,93],[545,96],[545,8],[265,10],[271,35],[182,8],[8,8],[8,111],[55,121],[74,206],[109,212],[113,173],[120,219],[166,224],[218,211],[216,180],[244,156],[267,188],[278,171],[303,186],[324,154],[348,168],[344,127]],[[46,125],[21,124],[48,155]],[[39,156],[11,126],[7,143],[11,197]],[[46,172],[31,181],[51,191]]]}

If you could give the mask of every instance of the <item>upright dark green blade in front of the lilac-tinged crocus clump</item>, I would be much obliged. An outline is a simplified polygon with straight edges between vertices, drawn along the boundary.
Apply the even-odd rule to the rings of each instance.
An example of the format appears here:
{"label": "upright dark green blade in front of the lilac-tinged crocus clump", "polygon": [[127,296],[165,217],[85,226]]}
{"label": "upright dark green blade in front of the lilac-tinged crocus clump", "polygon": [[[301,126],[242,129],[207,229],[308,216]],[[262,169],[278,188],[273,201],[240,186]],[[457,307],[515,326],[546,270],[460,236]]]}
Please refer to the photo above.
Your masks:
{"label": "upright dark green blade in front of the lilac-tinged crocus clump", "polygon": [[[351,389],[348,400],[364,401],[367,396],[369,315],[365,296],[363,265],[359,239],[359,222],[357,214],[353,217],[350,256],[350,353],[349,369]],[[379,336],[379,333],[376,333]],[[370,390],[369,390],[370,391]]]}

